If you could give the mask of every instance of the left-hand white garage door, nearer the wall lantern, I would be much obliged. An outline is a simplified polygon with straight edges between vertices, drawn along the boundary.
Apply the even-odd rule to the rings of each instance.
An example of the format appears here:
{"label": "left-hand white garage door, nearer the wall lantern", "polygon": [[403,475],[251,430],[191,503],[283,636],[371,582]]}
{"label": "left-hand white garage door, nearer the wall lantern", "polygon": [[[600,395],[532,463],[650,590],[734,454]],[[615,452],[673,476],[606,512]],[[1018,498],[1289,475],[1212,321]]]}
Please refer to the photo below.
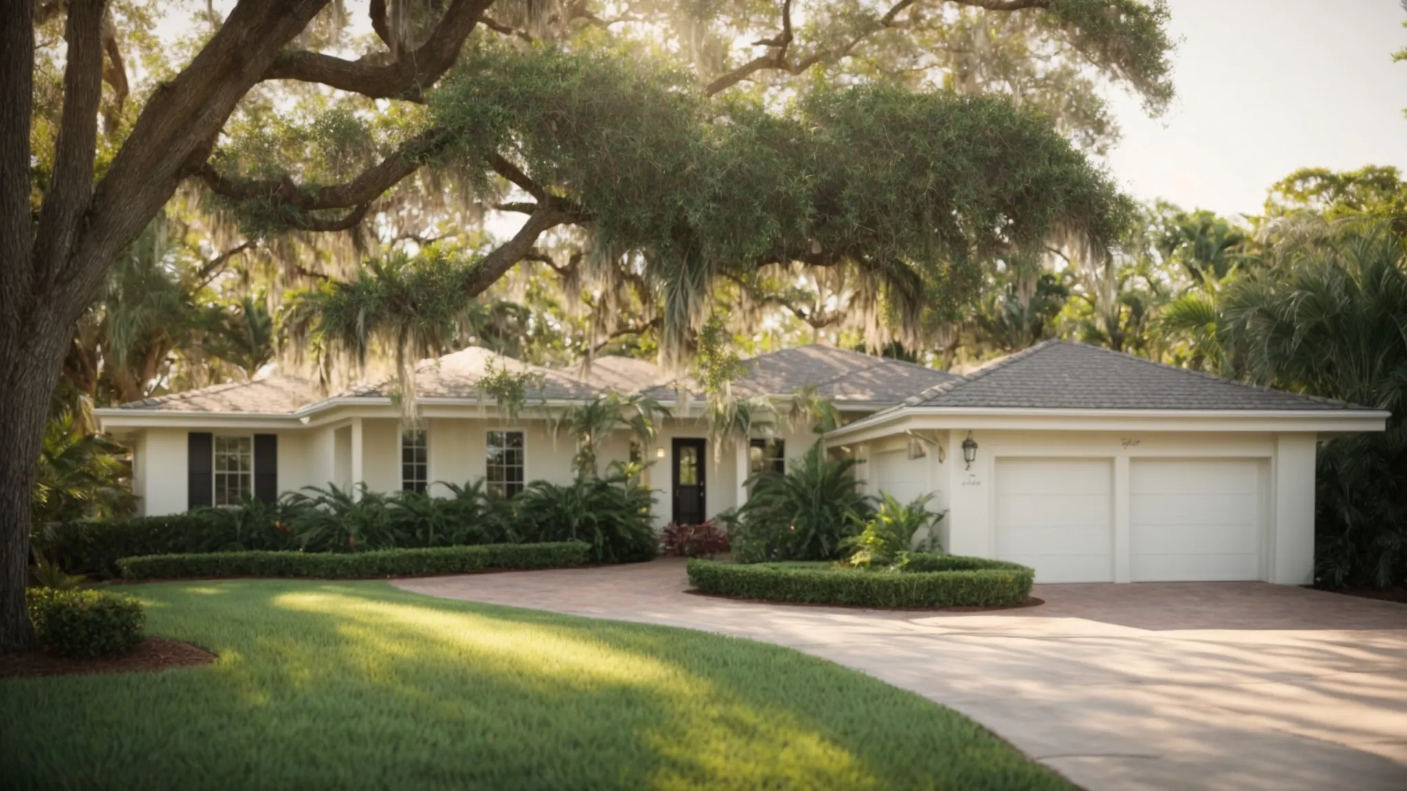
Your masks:
{"label": "left-hand white garage door, nearer the wall lantern", "polygon": [[1114,578],[1110,459],[998,459],[996,556],[1037,583]]}

